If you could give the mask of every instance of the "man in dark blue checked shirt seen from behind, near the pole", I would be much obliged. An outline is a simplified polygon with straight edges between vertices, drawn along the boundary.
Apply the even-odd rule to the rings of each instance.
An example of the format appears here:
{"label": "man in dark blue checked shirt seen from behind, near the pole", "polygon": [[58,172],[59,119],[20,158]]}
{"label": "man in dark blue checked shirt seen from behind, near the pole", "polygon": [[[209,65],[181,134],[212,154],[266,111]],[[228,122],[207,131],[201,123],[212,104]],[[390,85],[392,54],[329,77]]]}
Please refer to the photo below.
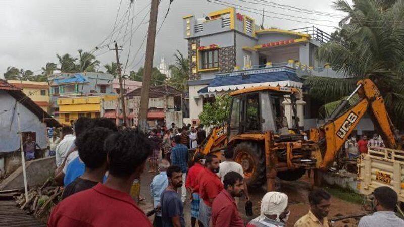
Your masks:
{"label": "man in dark blue checked shirt seen from behind, near the pole", "polygon": [[[181,136],[174,136],[174,147],[171,148],[171,163],[178,165],[182,171],[182,182],[186,180],[186,171],[188,169],[188,147],[181,144]],[[185,184],[181,187],[181,200],[184,203],[186,199]]]}

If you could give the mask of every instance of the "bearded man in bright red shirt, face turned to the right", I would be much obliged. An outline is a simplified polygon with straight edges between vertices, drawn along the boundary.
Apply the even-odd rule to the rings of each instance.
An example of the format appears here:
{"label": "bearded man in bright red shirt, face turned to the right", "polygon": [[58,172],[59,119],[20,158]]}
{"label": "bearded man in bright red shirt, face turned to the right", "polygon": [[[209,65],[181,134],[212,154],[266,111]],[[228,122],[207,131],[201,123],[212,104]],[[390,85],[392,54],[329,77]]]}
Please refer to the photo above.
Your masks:
{"label": "bearded man in bright red shirt, face turned to the right", "polygon": [[205,157],[206,168],[199,173],[199,195],[202,202],[199,205],[199,220],[204,226],[210,226],[212,202],[223,190],[223,183],[216,175],[219,172],[219,158],[214,154]]}

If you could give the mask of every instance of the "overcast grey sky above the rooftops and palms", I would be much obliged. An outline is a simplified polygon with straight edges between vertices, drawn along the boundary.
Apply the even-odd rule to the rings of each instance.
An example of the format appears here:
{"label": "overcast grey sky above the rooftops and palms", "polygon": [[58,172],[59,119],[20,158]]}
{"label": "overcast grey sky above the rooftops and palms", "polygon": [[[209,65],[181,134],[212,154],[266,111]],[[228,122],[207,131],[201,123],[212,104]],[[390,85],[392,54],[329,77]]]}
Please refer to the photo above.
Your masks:
{"label": "overcast grey sky above the rooftops and palms", "polygon": [[[252,2],[268,4],[264,3],[264,0],[245,1],[221,0],[219,3],[224,4],[223,2],[228,2],[261,10],[265,7],[266,11],[273,12],[267,12],[265,13],[266,15],[287,18],[286,20],[266,17],[264,22],[265,26],[275,26],[285,30],[318,24],[315,26],[330,33],[334,30],[333,27],[338,25],[338,23],[330,21],[339,21],[339,18],[335,17],[305,14],[273,6],[252,4]],[[124,16],[128,9],[129,2],[129,0],[122,0],[118,21]],[[138,30],[133,33],[131,51],[128,51],[130,35],[127,34],[125,37],[127,41],[125,41],[126,43],[123,45],[124,51],[122,51],[120,55],[121,62],[125,65],[128,52],[130,53],[127,71],[137,70],[144,64],[145,43],[142,47],[141,43],[147,32],[149,12],[147,5],[150,2],[151,0],[134,1],[134,15],[137,16],[133,20],[133,30],[135,30],[139,24],[140,26]],[[328,12],[334,15],[341,14],[331,7],[333,2],[331,0],[272,0],[272,2],[313,11]],[[351,3],[350,0],[348,2]],[[47,62],[58,62],[56,58],[57,53],[70,53],[77,57],[78,49],[83,49],[84,51],[93,50],[95,46],[102,43],[102,41],[111,34],[119,3],[120,0],[1,0],[0,78],[3,78],[3,73],[6,72],[8,66],[23,68],[24,70],[29,69],[34,72],[36,71],[35,74],[39,74],[41,67],[45,66]],[[168,5],[169,0],[161,0],[158,27],[160,27]],[[223,8],[226,8],[226,6],[207,2],[206,0],[174,0],[171,4],[167,19],[157,35],[154,58],[155,65],[160,62],[163,56],[166,62],[172,63],[173,54],[176,49],[185,53],[186,41],[182,36],[183,16],[194,14],[196,17],[202,17],[203,13],[208,14],[209,12]],[[141,11],[142,9],[144,10]],[[255,18],[257,23],[260,23],[262,20],[261,16],[258,14],[239,9],[237,9],[237,11]],[[274,13],[286,14],[286,16],[276,15]],[[305,19],[292,18],[288,15]],[[146,19],[141,23],[145,17]],[[302,22],[291,21],[290,19]],[[126,23],[127,18],[124,19],[124,21]],[[122,45],[125,28],[126,26],[123,26],[122,29],[120,29],[120,26],[116,28],[116,31],[120,30],[121,32],[119,34],[116,32],[112,39],[119,40],[118,43],[120,45]],[[130,29],[131,22],[128,26],[127,33],[129,33]],[[103,45],[109,42],[110,38],[107,38]],[[139,47],[140,50],[136,58],[134,58]],[[114,52],[107,50],[107,47],[104,47],[94,52],[95,55],[99,54],[97,59],[100,60],[102,64],[115,61]],[[104,68],[101,67],[101,70],[104,70]]]}

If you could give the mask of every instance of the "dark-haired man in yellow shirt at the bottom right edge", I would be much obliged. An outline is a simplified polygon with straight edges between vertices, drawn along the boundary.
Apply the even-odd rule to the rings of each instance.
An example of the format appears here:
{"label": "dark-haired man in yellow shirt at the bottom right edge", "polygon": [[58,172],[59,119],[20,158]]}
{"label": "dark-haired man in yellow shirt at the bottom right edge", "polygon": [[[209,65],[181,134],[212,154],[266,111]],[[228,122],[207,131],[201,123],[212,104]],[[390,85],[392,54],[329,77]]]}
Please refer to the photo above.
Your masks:
{"label": "dark-haired man in yellow shirt at the bottom right edge", "polygon": [[294,227],[329,227],[327,215],[330,211],[331,195],[323,189],[309,194],[310,210],[294,224]]}

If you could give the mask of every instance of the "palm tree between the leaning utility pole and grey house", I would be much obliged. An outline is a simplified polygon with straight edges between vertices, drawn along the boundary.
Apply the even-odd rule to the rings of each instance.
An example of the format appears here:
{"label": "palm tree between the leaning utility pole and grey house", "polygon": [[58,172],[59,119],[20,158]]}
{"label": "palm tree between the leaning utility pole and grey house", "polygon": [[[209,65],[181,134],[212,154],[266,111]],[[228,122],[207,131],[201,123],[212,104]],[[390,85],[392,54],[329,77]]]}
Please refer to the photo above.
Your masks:
{"label": "palm tree between the leaning utility pole and grey house", "polygon": [[171,70],[171,78],[168,84],[180,91],[188,91],[189,60],[184,58],[184,55],[179,50],[174,56],[175,64],[168,66],[168,69]]}

